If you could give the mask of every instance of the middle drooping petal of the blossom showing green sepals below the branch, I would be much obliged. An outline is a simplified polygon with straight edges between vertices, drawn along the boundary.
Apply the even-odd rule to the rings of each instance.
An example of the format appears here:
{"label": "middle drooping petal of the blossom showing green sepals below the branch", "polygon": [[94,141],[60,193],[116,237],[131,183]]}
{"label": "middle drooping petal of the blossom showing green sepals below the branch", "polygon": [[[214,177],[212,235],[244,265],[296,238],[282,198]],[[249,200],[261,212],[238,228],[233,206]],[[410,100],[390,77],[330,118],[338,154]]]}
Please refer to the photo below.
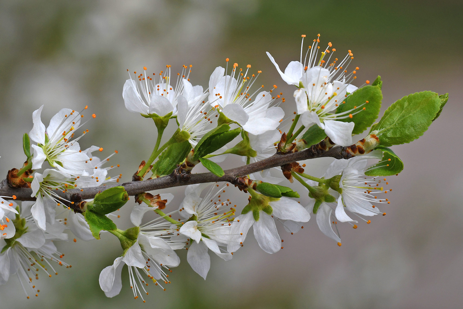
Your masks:
{"label": "middle drooping petal of the blossom showing green sepals below the branch", "polygon": [[254,223],[254,238],[262,250],[267,253],[278,252],[282,247],[282,240],[276,231],[275,221],[263,211],[260,211],[259,221]]}

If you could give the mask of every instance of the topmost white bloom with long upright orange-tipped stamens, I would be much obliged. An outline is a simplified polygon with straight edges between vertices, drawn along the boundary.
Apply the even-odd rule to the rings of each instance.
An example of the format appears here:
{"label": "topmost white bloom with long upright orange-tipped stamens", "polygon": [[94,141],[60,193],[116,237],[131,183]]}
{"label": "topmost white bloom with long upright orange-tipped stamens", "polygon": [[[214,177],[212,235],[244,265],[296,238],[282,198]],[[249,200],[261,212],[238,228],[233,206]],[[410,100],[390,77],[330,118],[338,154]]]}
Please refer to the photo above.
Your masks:
{"label": "topmost white bloom with long upright orange-tipped stamens", "polygon": [[[309,46],[302,60],[304,37],[305,35],[302,36],[300,47],[300,61],[289,63],[284,73],[269,52],[267,55],[283,80],[299,88],[294,92],[294,98],[302,124],[308,126],[315,123],[325,130],[326,135],[334,143],[342,146],[351,145],[354,123],[337,120],[351,118],[352,114],[355,114],[354,109],[338,114],[335,109],[344,102],[348,92],[352,93],[357,89],[349,82],[356,78],[358,68],[347,74],[347,67],[353,59],[353,54],[349,50],[347,56],[340,62],[338,58],[330,62],[336,49],[330,50],[332,44],[329,42],[325,50],[320,52],[319,57],[320,40],[317,38],[313,40],[313,46]],[[361,110],[358,108],[356,112]]]}

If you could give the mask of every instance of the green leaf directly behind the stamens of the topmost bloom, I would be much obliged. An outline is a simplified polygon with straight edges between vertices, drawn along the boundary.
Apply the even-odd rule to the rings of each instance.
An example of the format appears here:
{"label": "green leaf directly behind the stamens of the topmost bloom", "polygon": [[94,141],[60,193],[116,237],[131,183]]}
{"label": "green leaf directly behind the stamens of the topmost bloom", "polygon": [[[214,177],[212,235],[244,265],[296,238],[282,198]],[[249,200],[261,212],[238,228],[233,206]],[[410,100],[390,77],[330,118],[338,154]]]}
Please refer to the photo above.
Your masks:
{"label": "green leaf directly behind the stamens of the topmost bloom", "polygon": [[[381,100],[381,87],[379,85],[368,85],[357,89],[345,99],[345,103],[339,104],[336,114],[353,109],[351,112],[352,118],[347,117],[339,119],[339,121],[354,122],[355,126],[352,134],[360,134],[369,128],[378,118],[381,109]],[[366,103],[367,101],[368,103]],[[357,109],[354,109],[354,107],[357,107]]]}

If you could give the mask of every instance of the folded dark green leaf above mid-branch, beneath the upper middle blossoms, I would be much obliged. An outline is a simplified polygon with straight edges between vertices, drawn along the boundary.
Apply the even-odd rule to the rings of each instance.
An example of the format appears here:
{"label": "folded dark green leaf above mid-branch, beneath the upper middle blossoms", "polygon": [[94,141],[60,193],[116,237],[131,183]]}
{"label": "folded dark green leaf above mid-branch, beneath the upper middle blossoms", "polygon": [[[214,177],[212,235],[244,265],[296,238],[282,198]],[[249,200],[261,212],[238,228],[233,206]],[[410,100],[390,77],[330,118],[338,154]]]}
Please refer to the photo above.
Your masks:
{"label": "folded dark green leaf above mid-branch, beneath the upper middle blossoms", "polygon": [[199,158],[218,150],[222,146],[231,142],[240,132],[241,128],[230,130],[230,126],[227,124],[223,124],[212,129],[207,132],[202,139],[200,139],[194,148],[193,160],[199,160]]}

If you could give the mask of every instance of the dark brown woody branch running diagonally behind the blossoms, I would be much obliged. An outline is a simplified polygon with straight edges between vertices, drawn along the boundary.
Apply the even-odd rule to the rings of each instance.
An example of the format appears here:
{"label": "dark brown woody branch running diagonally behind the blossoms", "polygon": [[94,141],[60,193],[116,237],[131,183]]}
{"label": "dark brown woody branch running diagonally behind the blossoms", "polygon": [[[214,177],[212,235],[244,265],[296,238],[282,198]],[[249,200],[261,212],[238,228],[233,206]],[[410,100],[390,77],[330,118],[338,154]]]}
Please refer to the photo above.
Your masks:
{"label": "dark brown woody branch running diagonally behind the blossoms", "polygon": [[[328,145],[326,145],[328,144]],[[266,170],[276,166],[282,166],[291,162],[307,160],[313,158],[322,158],[322,157],[332,157],[336,159],[348,159],[353,157],[352,152],[350,151],[351,146],[341,147],[336,146],[330,148],[329,141],[321,141],[317,145],[312,145],[309,148],[289,154],[282,154],[277,152],[270,158],[263,159],[261,161],[233,168],[230,170],[225,170],[225,175],[222,177],[215,176],[213,173],[197,173],[190,174],[188,180],[183,178],[181,179],[180,174],[177,170],[174,170],[170,175],[166,175],[159,178],[148,179],[139,182],[128,182],[122,184],[108,184],[99,187],[84,188],[84,189],[69,189],[66,192],[56,192],[63,199],[71,201],[71,195],[78,194],[81,199],[91,199],[94,196],[105,190],[116,186],[123,186],[129,195],[137,195],[142,192],[147,192],[157,189],[165,189],[177,186],[185,186],[188,184],[194,183],[213,183],[226,181],[232,184],[235,184],[237,177],[243,177],[250,173],[255,173],[257,171]],[[17,200],[19,201],[35,201],[35,197],[31,197],[32,189],[25,188],[12,188],[4,179],[0,183],[0,195],[2,196],[13,196],[16,195]],[[75,198],[74,198],[75,199]]]}

